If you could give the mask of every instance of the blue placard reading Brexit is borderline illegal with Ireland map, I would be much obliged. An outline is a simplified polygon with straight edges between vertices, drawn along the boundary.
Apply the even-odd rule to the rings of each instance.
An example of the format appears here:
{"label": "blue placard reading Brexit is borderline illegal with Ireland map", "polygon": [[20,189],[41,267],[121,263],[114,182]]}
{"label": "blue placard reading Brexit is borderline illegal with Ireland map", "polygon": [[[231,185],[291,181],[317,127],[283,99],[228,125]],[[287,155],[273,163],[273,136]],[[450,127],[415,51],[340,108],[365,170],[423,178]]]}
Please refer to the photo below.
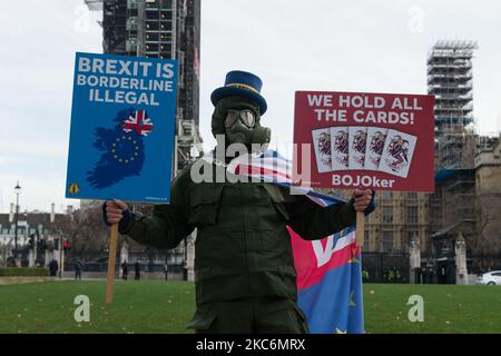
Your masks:
{"label": "blue placard reading Brexit is borderline illegal with Ireland map", "polygon": [[167,204],[177,61],[77,52],[66,197]]}

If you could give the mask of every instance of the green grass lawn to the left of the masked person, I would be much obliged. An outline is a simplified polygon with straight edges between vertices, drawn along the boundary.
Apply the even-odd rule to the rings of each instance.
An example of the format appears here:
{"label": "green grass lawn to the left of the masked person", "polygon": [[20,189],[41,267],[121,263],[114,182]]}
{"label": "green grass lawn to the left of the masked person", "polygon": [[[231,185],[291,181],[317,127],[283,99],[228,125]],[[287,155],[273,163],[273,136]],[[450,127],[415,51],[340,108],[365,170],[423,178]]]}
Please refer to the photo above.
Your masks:
{"label": "green grass lawn to the left of the masked person", "polygon": [[[106,281],[49,281],[0,286],[0,333],[189,333],[195,312],[193,283],[115,283],[105,304]],[[90,322],[75,322],[75,297],[90,299]]]}

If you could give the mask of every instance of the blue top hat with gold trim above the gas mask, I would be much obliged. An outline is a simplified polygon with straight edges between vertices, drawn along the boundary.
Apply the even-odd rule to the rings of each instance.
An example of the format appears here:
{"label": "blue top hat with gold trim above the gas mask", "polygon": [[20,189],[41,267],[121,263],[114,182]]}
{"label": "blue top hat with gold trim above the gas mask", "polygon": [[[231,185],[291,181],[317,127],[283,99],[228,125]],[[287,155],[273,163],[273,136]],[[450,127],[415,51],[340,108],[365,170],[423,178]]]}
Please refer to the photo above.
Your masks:
{"label": "blue top hat with gold trim above the gas mask", "polygon": [[232,70],[226,75],[225,86],[217,88],[210,95],[214,106],[227,97],[243,97],[254,100],[259,106],[259,113],[266,112],[267,105],[265,98],[261,96],[263,81],[259,77],[242,70]]}

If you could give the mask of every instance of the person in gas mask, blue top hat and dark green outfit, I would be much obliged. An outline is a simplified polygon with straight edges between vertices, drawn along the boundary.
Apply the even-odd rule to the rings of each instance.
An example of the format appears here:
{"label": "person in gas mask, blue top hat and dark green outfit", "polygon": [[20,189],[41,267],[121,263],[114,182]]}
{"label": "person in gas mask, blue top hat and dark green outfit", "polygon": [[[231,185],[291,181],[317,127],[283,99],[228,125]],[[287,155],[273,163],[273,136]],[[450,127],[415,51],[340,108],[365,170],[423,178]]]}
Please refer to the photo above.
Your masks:
{"label": "person in gas mask, blue top hat and dark green outfit", "polygon": [[[225,86],[213,92],[212,129],[218,146],[256,150],[269,142],[269,129],[261,126],[266,111],[261,88],[258,77],[230,71]],[[225,149],[215,151],[229,151]],[[119,222],[121,234],[158,248],[175,248],[197,228],[197,310],[189,324],[197,333],[307,333],[296,305],[286,226],[305,239],[337,233],[354,224],[357,210],[369,214],[374,208],[372,191],[355,190],[346,205],[321,207],[275,185],[228,179],[226,164],[234,157],[213,158],[180,171],[171,184],[170,204],[155,206],[153,216],[130,212],[125,202],[114,200],[104,206],[105,221]]]}

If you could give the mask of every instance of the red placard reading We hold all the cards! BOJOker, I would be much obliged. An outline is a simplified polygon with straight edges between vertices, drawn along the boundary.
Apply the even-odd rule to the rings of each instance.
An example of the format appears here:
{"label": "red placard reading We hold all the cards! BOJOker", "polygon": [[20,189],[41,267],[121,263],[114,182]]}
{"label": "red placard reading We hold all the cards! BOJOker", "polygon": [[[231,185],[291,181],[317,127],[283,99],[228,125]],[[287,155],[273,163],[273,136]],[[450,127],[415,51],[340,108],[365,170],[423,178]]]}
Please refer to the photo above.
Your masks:
{"label": "red placard reading We hold all the cards! BOJOker", "polygon": [[296,91],[295,185],[433,191],[434,98]]}

